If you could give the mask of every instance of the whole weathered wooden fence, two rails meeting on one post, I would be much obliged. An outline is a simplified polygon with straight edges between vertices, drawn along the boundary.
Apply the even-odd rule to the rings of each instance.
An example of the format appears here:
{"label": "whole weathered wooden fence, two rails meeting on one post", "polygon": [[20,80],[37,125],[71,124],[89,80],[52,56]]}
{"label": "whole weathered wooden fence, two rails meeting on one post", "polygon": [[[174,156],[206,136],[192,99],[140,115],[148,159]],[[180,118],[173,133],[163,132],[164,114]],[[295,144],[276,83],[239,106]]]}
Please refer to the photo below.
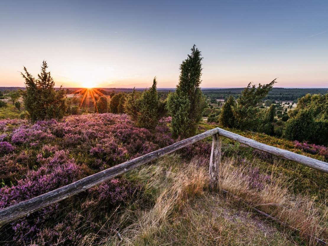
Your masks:
{"label": "whole weathered wooden fence, two rails meeting on one post", "polygon": [[28,201],[17,203],[13,206],[0,210],[0,226],[7,224],[13,220],[22,218],[26,215],[29,215],[33,212],[36,212],[42,208],[45,208],[53,203],[59,202],[68,198],[72,195],[78,194],[82,191],[90,189],[91,187],[98,185],[106,180],[109,180],[117,175],[126,173],[136,167],[139,167],[145,163],[153,161],[159,157],[170,154],[178,149],[186,147],[190,144],[193,144],[199,140],[202,140],[206,137],[213,135],[213,143],[212,143],[212,152],[210,158],[210,175],[212,184],[218,181],[219,178],[219,165],[221,159],[221,138],[222,136],[227,137],[229,139],[235,140],[239,143],[243,143],[248,145],[254,149],[281,157],[286,160],[295,161],[302,165],[323,171],[328,173],[328,163],[319,161],[307,156],[303,156],[300,154],[295,154],[293,152],[278,149],[276,147],[272,147],[266,144],[259,143],[255,140],[240,136],[235,133],[231,133],[225,131],[220,128],[215,128],[205,133],[198,134],[196,136],[184,139],[180,142],[174,143],[170,146],[162,148],[160,150],[154,151],[149,154],[145,154],[138,158],[135,158],[130,161],[126,161],[99,173],[93,174],[91,176],[80,179],[72,184],[66,185],[64,187],[58,188],[51,192],[48,192],[43,195],[39,195],[34,197]]}

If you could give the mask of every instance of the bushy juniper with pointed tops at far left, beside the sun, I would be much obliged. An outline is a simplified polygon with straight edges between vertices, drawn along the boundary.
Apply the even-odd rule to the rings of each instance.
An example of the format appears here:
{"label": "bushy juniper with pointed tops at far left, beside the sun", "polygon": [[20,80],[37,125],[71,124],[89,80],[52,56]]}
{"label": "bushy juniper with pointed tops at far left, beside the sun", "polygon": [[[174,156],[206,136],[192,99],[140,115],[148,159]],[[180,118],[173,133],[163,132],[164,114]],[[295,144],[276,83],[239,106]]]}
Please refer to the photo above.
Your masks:
{"label": "bushy juniper with pointed tops at far left, beside the sun", "polygon": [[47,62],[43,61],[41,73],[35,79],[24,67],[26,91],[22,91],[24,106],[32,121],[46,119],[61,119],[68,108],[66,91],[55,91],[55,82],[50,72],[47,72]]}

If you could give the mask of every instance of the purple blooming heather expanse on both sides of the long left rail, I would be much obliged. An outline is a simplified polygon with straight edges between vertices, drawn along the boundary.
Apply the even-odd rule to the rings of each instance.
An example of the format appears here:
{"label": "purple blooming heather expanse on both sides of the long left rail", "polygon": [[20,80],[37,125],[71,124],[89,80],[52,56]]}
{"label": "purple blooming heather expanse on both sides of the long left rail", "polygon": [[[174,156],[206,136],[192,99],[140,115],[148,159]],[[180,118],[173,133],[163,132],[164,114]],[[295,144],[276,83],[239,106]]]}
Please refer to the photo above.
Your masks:
{"label": "purple blooming heather expanse on both sides of the long left rail", "polygon": [[[177,140],[170,122],[170,117],[163,118],[154,130],[147,130],[136,127],[128,115],[111,113],[34,124],[1,120],[0,209],[173,144]],[[210,143],[199,142],[181,153],[191,157],[210,151]],[[137,181],[106,181],[5,225],[0,245],[78,245],[85,234],[99,231],[107,213],[139,197],[142,190]]]}

